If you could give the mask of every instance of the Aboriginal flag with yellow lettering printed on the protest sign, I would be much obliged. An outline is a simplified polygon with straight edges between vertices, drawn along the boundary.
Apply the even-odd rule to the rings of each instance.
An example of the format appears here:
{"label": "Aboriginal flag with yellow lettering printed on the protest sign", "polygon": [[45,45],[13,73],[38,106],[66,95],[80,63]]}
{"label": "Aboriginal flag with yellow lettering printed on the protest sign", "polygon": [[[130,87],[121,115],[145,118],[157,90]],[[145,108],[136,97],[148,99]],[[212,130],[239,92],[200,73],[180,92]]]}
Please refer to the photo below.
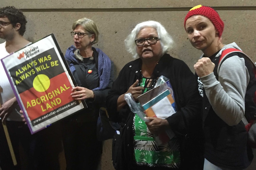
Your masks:
{"label": "Aboriginal flag with yellow lettering printed on the protest sign", "polygon": [[9,71],[32,125],[79,105],[70,95],[72,86],[53,48]]}

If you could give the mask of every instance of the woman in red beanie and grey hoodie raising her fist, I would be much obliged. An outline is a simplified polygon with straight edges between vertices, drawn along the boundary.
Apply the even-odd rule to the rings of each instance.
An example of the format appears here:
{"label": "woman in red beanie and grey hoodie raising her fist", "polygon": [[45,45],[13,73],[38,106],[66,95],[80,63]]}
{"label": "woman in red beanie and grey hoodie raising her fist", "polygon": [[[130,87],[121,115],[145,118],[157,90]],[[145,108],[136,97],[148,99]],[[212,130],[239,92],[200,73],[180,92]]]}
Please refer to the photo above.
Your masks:
{"label": "woman in red beanie and grey hoodie raising her fist", "polygon": [[203,51],[194,69],[198,76],[198,90],[203,97],[204,169],[244,169],[253,158],[251,149],[247,148],[246,130],[241,121],[250,79],[246,67],[248,62],[243,56],[231,53],[232,57],[222,59],[218,68],[225,49],[241,49],[236,43],[222,43],[224,23],[211,7],[198,5],[190,9],[184,26],[192,46]]}

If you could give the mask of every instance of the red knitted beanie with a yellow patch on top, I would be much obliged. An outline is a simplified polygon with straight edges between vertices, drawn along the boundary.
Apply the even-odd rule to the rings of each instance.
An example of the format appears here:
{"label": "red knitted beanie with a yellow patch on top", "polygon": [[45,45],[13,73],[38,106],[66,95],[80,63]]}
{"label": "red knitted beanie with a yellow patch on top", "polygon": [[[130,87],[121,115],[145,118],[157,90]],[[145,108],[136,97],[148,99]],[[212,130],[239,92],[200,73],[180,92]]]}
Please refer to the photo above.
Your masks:
{"label": "red knitted beanie with a yellow patch on top", "polygon": [[[224,23],[220,19],[219,14],[213,8],[202,6],[202,5],[197,5],[193,8],[191,8],[185,17],[184,27],[186,25],[187,19],[193,15],[202,15],[204,17],[207,17],[213,23],[214,27],[219,32],[219,37],[221,37],[223,29],[224,29]],[[185,27],[185,29],[186,29],[186,27]]]}

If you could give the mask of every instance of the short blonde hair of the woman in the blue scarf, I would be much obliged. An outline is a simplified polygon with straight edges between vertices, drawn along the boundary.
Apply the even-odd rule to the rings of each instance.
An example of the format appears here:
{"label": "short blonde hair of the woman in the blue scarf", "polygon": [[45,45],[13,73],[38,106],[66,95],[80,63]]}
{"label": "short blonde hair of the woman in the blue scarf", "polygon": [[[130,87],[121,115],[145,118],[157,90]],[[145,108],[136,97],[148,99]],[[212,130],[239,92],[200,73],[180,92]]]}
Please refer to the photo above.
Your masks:
{"label": "short blonde hair of the woman in the blue scarf", "polygon": [[92,34],[94,34],[95,38],[94,41],[91,42],[91,44],[95,44],[99,40],[99,31],[97,25],[94,23],[93,20],[90,20],[88,18],[81,18],[73,23],[72,29],[75,30],[75,28],[81,25],[84,30],[86,30],[89,33],[89,37],[91,37]]}

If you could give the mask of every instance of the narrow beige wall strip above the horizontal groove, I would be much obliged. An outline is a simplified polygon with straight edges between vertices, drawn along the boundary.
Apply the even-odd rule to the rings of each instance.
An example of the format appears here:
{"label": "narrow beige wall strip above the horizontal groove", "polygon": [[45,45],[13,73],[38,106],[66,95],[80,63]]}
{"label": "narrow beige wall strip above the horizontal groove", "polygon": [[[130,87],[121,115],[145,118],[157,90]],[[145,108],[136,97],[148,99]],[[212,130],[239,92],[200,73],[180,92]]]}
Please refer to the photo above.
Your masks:
{"label": "narrow beige wall strip above the horizontal groove", "polygon": [[[22,2],[22,3],[20,3]],[[13,5],[16,8],[21,9],[42,9],[42,8],[170,8],[170,7],[194,7],[196,5],[206,5],[213,7],[229,7],[229,6],[256,6],[254,0],[75,0],[75,1],[63,1],[63,0],[9,0],[0,1],[0,7],[7,5]]]}

